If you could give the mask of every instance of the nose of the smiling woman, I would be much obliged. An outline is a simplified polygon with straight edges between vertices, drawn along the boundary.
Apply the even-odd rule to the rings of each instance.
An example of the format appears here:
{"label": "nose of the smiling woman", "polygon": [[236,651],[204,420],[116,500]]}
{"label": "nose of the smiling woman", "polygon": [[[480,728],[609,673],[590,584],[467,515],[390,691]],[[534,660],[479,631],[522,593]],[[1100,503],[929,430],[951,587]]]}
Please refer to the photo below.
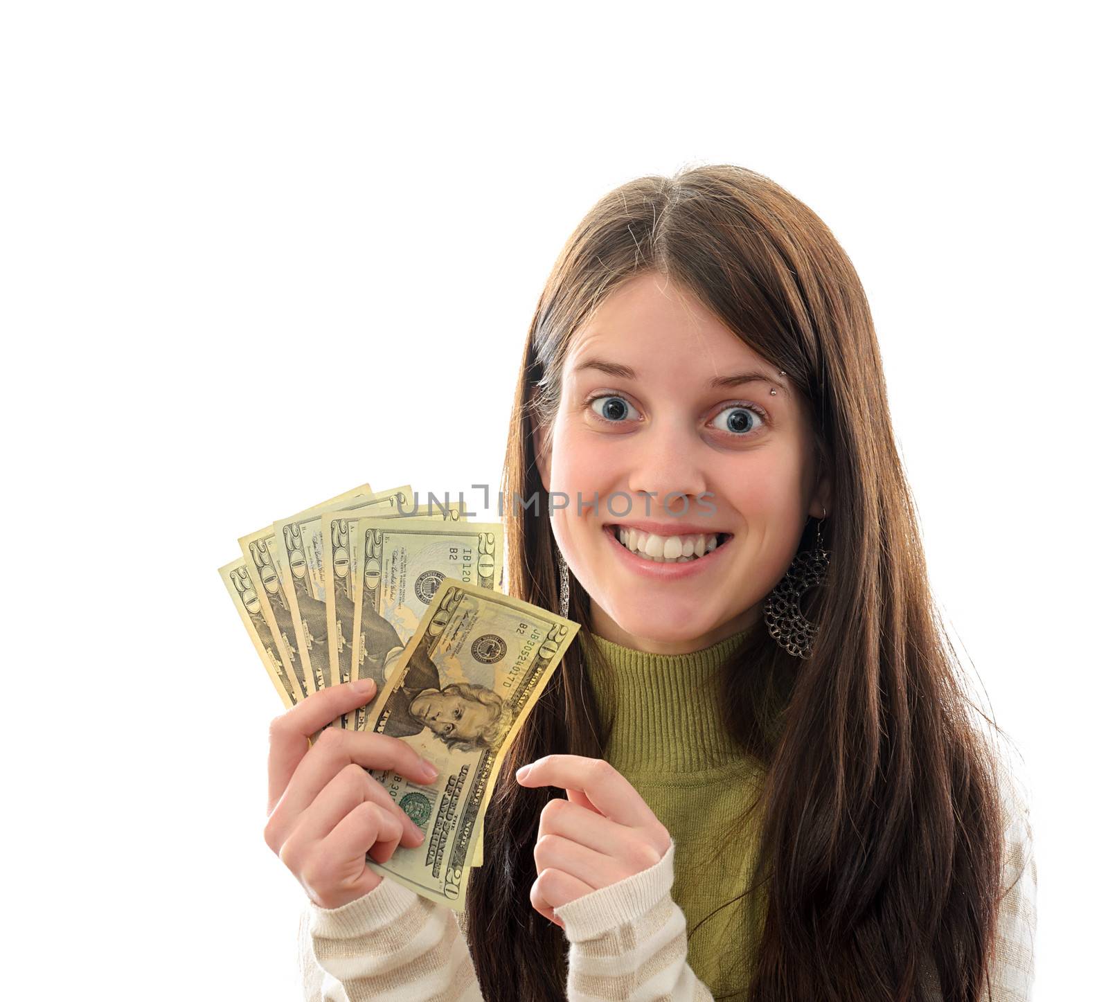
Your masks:
{"label": "nose of the smiling woman", "polygon": [[[687,514],[697,494],[708,490],[706,463],[709,452],[687,419],[673,417],[655,421],[635,436],[635,452],[628,457],[630,493],[653,494],[650,513],[660,519]],[[667,495],[668,511],[665,508]],[[688,499],[687,508],[683,495]]]}

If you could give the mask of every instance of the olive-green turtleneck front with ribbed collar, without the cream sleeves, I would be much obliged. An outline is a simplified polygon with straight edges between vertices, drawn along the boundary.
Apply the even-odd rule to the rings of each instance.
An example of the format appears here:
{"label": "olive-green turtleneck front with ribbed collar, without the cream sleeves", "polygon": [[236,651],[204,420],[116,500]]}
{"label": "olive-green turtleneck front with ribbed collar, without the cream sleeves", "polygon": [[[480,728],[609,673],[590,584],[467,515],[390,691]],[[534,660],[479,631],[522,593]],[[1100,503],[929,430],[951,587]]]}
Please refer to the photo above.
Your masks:
{"label": "olive-green turtleneck front with ribbed collar, without the cream sleeves", "polygon": [[757,949],[765,919],[760,893],[733,899],[750,887],[760,812],[736,822],[766,774],[724,730],[718,710],[718,671],[748,633],[691,654],[646,654],[594,634],[606,665],[582,645],[601,713],[614,719],[604,758],[673,837],[671,893],[685,912],[688,964],[715,998],[745,996],[746,951]]}

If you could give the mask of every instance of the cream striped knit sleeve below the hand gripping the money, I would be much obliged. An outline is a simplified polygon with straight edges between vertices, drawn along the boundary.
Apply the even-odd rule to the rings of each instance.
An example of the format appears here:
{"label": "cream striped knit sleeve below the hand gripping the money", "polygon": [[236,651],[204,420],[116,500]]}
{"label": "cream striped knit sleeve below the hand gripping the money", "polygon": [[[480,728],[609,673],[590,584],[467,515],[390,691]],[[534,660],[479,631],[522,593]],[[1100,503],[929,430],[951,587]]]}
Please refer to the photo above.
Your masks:
{"label": "cream striped knit sleeve below the hand gripping the money", "polygon": [[305,1002],[483,1002],[456,914],[384,879],[341,908],[300,916]]}

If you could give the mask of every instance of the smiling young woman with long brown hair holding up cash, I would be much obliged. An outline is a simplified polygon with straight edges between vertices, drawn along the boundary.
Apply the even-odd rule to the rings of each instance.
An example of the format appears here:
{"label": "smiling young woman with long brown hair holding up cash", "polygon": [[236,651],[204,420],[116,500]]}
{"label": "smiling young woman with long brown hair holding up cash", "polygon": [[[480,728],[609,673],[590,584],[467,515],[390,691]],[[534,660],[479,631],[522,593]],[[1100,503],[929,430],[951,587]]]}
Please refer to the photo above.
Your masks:
{"label": "smiling young woman with long brown hair holding up cash", "polygon": [[811,209],[726,165],[597,203],[532,320],[503,497],[512,594],[584,628],[460,922],[363,866],[416,837],[343,767],[419,778],[414,755],[307,752],[371,695],[275,723],[266,834],[309,893],[307,998],[1028,998],[1026,797],[962,685],[865,295]]}

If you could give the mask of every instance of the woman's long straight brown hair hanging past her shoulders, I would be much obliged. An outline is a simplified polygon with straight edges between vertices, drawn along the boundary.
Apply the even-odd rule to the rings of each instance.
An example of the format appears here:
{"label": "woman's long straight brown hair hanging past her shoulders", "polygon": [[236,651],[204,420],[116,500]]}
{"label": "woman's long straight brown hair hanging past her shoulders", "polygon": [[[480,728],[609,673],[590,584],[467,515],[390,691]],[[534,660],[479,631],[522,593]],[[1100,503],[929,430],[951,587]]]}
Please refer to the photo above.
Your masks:
{"label": "woman's long straight brown hair hanging past her shoulders", "polygon": [[[769,178],[731,165],[640,177],[570,237],[515,392],[502,484],[511,592],[557,609],[548,521],[516,503],[537,498],[545,512],[533,437],[557,410],[574,331],[646,269],[789,374],[834,471],[830,572],[806,609],[819,626],[811,658],[759,624],[725,678],[725,722],[766,769],[765,922],[757,942],[735,943],[751,958],[748,998],[907,1002],[927,981],[944,1000],[983,998],[1003,842],[995,756],[931,594],[862,285],[822,221]],[[538,816],[562,794],[522,788],[514,771],[552,753],[603,757],[609,722],[585,672],[592,622],[576,582],[570,616],[584,628],[513,743],[469,889],[463,926],[490,1002],[565,998],[564,933],[530,902]]]}

